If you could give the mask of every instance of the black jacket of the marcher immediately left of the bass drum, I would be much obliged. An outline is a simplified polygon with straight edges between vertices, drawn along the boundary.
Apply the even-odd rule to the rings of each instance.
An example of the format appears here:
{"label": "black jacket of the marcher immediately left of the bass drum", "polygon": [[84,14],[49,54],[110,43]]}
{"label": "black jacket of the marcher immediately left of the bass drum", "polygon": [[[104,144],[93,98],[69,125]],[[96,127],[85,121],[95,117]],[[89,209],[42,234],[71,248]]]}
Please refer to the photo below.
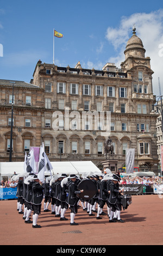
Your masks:
{"label": "black jacket of the marcher immediately left of the bass drum", "polygon": [[77,197],[77,194],[81,193],[78,190],[78,183],[75,181],[70,181],[69,186],[68,186],[68,198],[67,198],[67,203],[70,205],[75,205],[79,198]]}

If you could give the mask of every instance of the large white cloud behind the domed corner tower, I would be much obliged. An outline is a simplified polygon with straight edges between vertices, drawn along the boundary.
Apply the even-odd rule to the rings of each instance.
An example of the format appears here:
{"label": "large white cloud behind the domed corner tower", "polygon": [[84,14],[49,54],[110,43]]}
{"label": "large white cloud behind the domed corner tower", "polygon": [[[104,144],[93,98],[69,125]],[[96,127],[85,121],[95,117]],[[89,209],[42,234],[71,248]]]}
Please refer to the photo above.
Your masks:
{"label": "large white cloud behind the domed corner tower", "polygon": [[153,74],[153,93],[159,95],[158,77],[162,84],[163,94],[163,56],[160,51],[163,44],[163,9],[152,11],[151,13],[135,13],[129,17],[122,17],[121,24],[117,28],[108,27],[106,39],[111,42],[118,55],[109,58],[109,62],[115,62],[120,65],[124,61],[124,50],[128,39],[131,37],[131,29],[136,25],[136,35],[143,42],[146,49],[146,57],[151,58],[151,69]]}

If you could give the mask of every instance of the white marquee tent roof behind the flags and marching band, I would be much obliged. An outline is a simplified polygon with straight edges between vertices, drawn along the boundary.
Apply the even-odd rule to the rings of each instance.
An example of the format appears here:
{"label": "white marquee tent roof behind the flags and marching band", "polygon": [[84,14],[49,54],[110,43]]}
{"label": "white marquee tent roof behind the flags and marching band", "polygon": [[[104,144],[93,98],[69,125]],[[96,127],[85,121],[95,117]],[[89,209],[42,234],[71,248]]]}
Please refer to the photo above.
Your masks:
{"label": "white marquee tent roof behind the flags and marching band", "polygon": [[[51,162],[53,166],[52,174],[78,174],[82,175],[83,173],[93,172],[101,173],[101,170],[92,162],[92,161],[60,161],[60,162]],[[0,176],[1,179],[3,176],[8,176],[9,178],[16,174],[24,172],[24,162],[0,162]]]}

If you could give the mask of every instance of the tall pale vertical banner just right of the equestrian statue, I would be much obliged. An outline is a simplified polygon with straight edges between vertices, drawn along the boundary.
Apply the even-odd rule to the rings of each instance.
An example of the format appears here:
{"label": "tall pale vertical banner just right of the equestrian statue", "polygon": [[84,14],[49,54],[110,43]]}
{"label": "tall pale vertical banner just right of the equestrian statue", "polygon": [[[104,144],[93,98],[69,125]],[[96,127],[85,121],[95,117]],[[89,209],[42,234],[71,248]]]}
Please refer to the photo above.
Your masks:
{"label": "tall pale vertical banner just right of the equestrian statue", "polygon": [[126,149],[126,173],[134,173],[135,149]]}

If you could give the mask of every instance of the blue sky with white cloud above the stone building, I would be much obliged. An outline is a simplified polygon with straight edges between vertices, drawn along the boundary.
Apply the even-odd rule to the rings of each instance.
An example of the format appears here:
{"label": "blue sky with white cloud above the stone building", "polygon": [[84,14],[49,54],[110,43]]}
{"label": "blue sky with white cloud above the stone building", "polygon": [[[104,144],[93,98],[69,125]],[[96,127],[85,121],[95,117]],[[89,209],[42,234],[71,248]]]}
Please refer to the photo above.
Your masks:
{"label": "blue sky with white cloud above the stone building", "polygon": [[151,57],[153,92],[163,94],[162,1],[24,1],[0,0],[0,78],[30,82],[36,63],[102,69],[107,62],[120,67],[124,50],[136,25],[146,57]]}

